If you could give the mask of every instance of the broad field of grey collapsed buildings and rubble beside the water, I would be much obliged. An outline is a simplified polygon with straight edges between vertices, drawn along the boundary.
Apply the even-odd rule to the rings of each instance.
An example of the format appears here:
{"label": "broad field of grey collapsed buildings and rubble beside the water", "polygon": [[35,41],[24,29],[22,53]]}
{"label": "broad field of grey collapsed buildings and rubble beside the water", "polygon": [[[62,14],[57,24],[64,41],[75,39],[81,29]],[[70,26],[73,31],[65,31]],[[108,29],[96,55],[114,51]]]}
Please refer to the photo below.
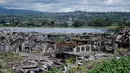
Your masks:
{"label": "broad field of grey collapsed buildings and rubble beside the water", "polygon": [[90,58],[98,53],[114,54],[119,46],[115,37],[109,33],[43,34],[1,31],[0,34],[0,51],[21,54],[23,60],[18,65],[13,63],[13,68],[25,73],[46,71],[51,66],[61,65],[70,57]]}

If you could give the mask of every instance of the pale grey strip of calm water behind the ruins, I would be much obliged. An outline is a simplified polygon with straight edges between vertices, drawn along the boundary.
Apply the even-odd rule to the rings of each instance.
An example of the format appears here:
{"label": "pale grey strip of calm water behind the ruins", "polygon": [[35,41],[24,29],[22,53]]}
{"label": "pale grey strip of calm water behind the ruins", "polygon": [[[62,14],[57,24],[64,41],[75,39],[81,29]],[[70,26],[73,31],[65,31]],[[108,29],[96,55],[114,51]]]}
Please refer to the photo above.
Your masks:
{"label": "pale grey strip of calm water behind the ruins", "polygon": [[0,30],[11,30],[15,32],[42,32],[42,33],[103,33],[104,28],[0,28]]}

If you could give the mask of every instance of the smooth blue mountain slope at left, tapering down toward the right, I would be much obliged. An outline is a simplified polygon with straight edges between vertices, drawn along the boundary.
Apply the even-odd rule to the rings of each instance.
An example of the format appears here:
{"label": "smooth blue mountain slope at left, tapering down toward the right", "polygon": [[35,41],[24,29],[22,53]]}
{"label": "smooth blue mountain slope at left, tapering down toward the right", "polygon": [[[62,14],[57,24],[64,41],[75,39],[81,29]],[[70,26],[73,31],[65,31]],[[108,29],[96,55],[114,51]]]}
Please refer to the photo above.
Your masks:
{"label": "smooth blue mountain slope at left, tapering down toward the right", "polygon": [[6,9],[0,6],[0,14],[7,14],[7,15],[34,15],[40,14],[42,12],[38,11],[30,11],[30,10],[17,10],[17,9]]}

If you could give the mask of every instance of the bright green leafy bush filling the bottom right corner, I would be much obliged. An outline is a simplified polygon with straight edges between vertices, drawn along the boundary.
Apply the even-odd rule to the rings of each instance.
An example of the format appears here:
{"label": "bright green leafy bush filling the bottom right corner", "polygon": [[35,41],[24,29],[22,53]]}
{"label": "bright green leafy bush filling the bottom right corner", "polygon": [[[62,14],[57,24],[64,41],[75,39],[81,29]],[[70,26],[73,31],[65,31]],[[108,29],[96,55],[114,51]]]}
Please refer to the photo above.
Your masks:
{"label": "bright green leafy bush filling the bottom right corner", "polygon": [[130,73],[130,58],[114,58],[95,66],[87,73]]}

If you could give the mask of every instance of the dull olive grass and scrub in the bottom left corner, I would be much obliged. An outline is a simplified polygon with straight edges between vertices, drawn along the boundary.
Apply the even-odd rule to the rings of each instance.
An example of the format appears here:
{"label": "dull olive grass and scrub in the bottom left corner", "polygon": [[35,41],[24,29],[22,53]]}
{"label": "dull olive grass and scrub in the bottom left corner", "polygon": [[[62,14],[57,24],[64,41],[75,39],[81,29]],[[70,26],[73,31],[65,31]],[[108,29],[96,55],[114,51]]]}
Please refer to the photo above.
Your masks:
{"label": "dull olive grass and scrub in the bottom left corner", "polygon": [[19,61],[21,56],[13,52],[0,52],[0,71],[4,73],[12,73],[9,62]]}

